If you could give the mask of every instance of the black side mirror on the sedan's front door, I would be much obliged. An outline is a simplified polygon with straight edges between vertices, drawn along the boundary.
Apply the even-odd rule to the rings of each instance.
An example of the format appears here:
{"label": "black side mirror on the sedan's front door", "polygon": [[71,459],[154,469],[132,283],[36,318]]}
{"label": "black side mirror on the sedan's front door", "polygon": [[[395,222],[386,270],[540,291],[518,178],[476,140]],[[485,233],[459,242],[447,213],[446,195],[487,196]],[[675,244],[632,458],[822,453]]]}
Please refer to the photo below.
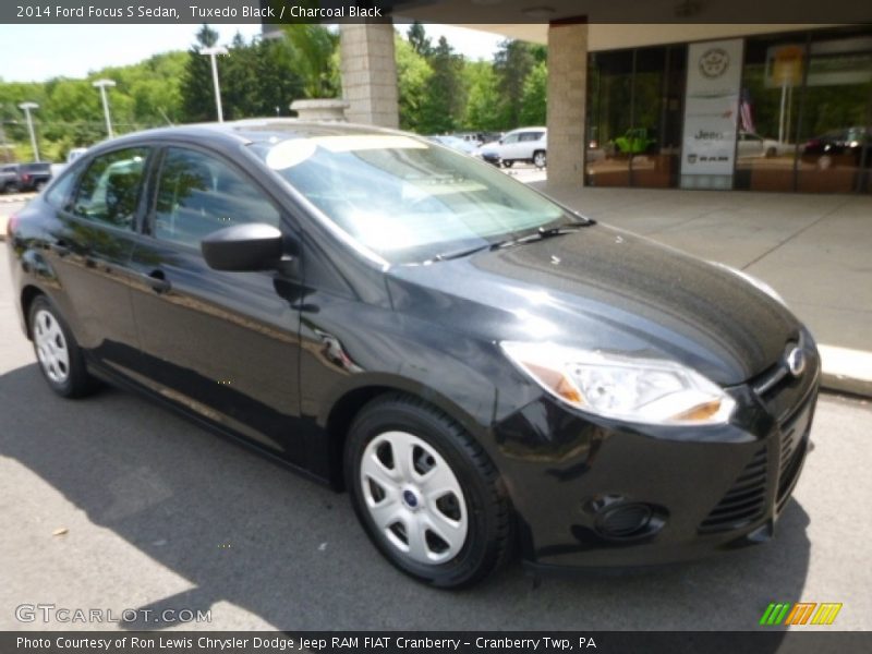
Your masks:
{"label": "black side mirror on the sedan's front door", "polygon": [[274,268],[284,254],[284,237],[271,225],[234,225],[210,233],[199,244],[210,268],[238,272]]}

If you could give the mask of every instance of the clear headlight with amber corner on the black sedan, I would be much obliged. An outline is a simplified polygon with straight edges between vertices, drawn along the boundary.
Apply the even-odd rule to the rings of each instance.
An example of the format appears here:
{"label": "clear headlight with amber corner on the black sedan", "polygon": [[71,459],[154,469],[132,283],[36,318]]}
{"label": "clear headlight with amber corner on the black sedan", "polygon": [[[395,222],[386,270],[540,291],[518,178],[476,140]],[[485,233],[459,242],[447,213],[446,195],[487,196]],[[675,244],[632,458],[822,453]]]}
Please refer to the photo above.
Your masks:
{"label": "clear headlight with amber corner on the black sedan", "polygon": [[559,400],[590,413],[656,425],[710,425],[729,420],[736,402],[683,365],[566,348],[500,343],[521,371]]}

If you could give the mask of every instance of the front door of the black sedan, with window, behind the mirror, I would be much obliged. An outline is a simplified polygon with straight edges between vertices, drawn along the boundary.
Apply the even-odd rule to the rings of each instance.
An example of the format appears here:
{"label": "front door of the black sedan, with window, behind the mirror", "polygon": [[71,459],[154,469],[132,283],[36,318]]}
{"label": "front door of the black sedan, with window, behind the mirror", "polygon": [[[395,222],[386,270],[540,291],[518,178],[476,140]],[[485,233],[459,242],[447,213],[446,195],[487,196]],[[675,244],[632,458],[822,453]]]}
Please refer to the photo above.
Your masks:
{"label": "front door of the black sedan, with window, behind the mirror", "polygon": [[281,211],[229,161],[182,147],[164,152],[153,204],[132,263],[145,383],[304,465],[295,281],[213,270],[199,251],[204,237],[231,225],[287,231]]}

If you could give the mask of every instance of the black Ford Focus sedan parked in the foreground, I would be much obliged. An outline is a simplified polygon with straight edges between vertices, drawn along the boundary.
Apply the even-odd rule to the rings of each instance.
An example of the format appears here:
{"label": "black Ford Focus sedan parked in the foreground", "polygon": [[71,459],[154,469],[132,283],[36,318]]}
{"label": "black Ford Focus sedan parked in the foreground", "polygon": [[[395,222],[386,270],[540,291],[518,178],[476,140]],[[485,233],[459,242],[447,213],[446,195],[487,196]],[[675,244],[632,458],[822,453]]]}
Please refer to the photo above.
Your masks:
{"label": "black Ford Focus sedan parked in the foreground", "polygon": [[117,138],[9,230],[51,389],[141,390],[347,489],[434,585],[765,541],[809,446],[820,360],[771,289],[399,132]]}

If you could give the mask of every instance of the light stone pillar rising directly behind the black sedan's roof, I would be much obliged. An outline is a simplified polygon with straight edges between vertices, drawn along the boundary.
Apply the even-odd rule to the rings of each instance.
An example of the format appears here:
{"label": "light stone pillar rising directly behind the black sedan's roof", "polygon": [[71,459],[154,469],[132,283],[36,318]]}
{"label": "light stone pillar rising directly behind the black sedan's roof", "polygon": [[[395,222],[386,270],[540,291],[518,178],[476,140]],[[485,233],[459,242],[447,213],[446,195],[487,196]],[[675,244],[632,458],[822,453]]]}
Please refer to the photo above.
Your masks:
{"label": "light stone pillar rising directly behind the black sedan's roof", "polygon": [[391,23],[343,23],[339,26],[342,96],[349,122],[400,126],[397,61]]}

